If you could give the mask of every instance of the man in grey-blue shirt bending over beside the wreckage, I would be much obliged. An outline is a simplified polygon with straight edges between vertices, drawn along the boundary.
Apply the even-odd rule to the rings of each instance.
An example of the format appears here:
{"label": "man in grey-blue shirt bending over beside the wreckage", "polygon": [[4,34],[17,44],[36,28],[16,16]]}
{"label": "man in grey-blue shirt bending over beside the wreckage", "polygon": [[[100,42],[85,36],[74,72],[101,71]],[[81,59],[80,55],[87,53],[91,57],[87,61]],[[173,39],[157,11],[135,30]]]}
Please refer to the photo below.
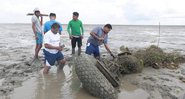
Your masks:
{"label": "man in grey-blue shirt bending over beside the wreckage", "polygon": [[107,44],[108,40],[108,33],[111,31],[112,26],[110,24],[106,24],[103,28],[96,27],[94,28],[91,33],[90,37],[87,40],[87,47],[86,47],[86,54],[93,54],[95,58],[100,58],[100,51],[99,46],[104,44],[106,50],[110,53],[110,55],[114,58],[114,55],[109,49]]}

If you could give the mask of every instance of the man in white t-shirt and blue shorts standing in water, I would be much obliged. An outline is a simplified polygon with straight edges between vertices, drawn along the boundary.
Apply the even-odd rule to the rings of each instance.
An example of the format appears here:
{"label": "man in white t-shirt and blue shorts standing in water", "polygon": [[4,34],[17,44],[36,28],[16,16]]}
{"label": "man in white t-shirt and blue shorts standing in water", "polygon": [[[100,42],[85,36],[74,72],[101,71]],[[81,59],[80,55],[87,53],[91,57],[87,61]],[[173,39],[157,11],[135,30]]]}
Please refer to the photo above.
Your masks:
{"label": "man in white t-shirt and blue shorts standing in water", "polygon": [[59,66],[65,64],[64,55],[62,54],[63,47],[60,45],[60,34],[58,33],[60,25],[54,23],[51,26],[51,30],[44,35],[44,55],[45,55],[45,66],[44,74],[49,72],[55,61],[58,61]]}

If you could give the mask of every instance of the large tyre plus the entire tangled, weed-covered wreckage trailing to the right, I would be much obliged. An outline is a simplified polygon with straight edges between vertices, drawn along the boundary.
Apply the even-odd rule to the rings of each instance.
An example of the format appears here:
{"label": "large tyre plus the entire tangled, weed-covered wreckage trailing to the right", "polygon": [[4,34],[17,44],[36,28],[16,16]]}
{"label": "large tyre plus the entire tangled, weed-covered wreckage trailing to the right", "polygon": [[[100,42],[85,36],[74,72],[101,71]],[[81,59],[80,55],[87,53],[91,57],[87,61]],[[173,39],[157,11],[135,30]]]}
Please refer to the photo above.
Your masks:
{"label": "large tyre plus the entire tangled, weed-covered wreckage trailing to the right", "polygon": [[159,68],[159,65],[176,68],[179,62],[184,62],[183,57],[164,53],[156,46],[150,46],[146,50],[139,50],[133,54],[128,48],[121,51],[114,59],[96,60],[89,55],[76,57],[76,74],[91,95],[102,99],[117,99],[121,75],[141,72],[147,65],[154,68]]}

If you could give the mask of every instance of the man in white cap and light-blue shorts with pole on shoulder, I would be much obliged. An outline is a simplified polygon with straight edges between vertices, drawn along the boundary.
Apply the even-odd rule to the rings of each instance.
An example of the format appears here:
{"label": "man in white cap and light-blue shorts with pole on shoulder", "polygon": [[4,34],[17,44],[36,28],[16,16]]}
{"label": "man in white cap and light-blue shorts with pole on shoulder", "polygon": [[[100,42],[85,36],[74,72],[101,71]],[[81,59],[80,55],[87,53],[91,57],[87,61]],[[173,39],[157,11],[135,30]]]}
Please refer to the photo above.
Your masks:
{"label": "man in white cap and light-blue shorts with pole on shoulder", "polygon": [[[36,40],[36,47],[35,47],[35,56],[34,59],[38,59],[38,53],[40,49],[42,48],[42,42],[43,42],[43,36],[42,36],[42,21],[43,18],[40,14],[40,11],[38,8],[35,8],[33,10],[34,15],[32,17],[32,29],[35,35]],[[39,19],[41,18],[41,20]]]}

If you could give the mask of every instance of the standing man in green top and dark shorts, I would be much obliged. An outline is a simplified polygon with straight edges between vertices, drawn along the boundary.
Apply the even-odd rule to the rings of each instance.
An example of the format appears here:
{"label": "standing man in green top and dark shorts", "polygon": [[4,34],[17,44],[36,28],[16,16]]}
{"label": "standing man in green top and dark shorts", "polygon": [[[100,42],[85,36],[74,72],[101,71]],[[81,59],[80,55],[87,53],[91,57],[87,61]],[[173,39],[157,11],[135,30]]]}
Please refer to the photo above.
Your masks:
{"label": "standing man in green top and dark shorts", "polygon": [[73,19],[68,23],[67,31],[69,33],[69,38],[71,39],[72,54],[75,54],[76,43],[78,43],[78,55],[80,55],[84,28],[82,21],[80,21],[78,17],[79,13],[73,12]]}

